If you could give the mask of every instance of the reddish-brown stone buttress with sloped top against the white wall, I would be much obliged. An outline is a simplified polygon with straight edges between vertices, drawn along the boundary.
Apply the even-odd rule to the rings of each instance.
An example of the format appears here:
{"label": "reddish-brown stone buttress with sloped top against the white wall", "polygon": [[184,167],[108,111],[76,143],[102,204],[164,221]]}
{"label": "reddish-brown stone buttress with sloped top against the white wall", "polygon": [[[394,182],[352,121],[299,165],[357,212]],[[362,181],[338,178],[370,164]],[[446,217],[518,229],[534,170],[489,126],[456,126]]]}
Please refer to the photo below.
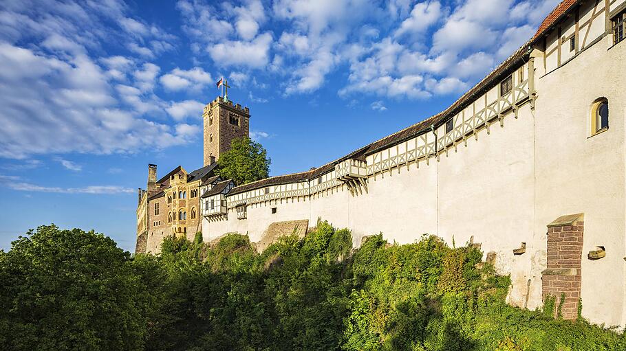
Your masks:
{"label": "reddish-brown stone buttress with sloped top against the white wall", "polygon": [[583,255],[583,214],[561,216],[548,225],[547,268],[541,272],[543,301],[556,297],[554,317],[557,316],[561,296],[564,319],[576,319],[581,297],[581,261]]}

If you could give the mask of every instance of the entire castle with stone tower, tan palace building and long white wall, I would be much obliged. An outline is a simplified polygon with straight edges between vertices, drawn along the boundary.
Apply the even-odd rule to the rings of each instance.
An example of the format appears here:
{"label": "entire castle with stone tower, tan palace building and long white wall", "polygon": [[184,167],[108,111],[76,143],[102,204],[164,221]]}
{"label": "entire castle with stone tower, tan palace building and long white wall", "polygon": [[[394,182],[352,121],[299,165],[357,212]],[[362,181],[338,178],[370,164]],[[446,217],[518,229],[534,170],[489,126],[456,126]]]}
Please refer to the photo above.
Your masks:
{"label": "entire castle with stone tower, tan palace building and long white wall", "polygon": [[[547,295],[565,318],[626,325],[626,0],[564,0],[535,36],[448,109],[318,168],[234,186],[215,158],[248,109],[204,108],[204,167],[140,190],[136,252],[166,235],[248,234],[257,249],[317,218],[407,243],[481,245],[508,302]],[[561,302],[561,297],[565,299]]]}

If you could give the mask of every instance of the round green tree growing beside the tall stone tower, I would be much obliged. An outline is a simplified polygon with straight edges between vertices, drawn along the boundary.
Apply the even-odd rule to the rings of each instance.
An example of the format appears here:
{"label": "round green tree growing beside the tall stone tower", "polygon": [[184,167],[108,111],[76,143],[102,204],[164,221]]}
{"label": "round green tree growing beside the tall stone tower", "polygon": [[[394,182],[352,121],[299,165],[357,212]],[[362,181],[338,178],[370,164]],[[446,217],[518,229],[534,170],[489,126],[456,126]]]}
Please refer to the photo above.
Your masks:
{"label": "round green tree growing beside the tall stone tower", "polygon": [[217,173],[224,179],[233,179],[235,185],[267,178],[270,172],[268,152],[249,137],[233,139],[230,150],[219,156]]}

